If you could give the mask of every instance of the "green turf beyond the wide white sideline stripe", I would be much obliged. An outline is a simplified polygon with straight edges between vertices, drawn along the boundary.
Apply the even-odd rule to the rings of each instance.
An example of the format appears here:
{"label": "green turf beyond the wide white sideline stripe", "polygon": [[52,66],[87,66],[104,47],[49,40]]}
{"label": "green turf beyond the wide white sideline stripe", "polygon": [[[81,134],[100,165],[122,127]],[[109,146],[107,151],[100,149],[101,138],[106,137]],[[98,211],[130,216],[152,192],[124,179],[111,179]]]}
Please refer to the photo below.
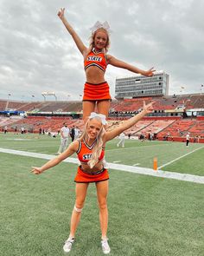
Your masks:
{"label": "green turf beyond the wide white sideline stripe", "polygon": [[[22,141],[21,141],[22,140]],[[109,141],[106,145],[106,161],[116,161],[118,164],[134,165],[138,167],[153,167],[153,159],[157,157],[158,167],[176,158],[180,160],[162,167],[164,171],[201,175],[204,174],[204,144],[190,143],[186,147],[184,142],[168,141],[136,141],[126,140],[125,148],[117,148],[118,140]],[[12,148],[43,154],[56,154],[60,146],[60,138],[43,135],[0,135],[0,148]],[[197,151],[194,151],[201,148]],[[194,152],[193,152],[194,151]]]}

